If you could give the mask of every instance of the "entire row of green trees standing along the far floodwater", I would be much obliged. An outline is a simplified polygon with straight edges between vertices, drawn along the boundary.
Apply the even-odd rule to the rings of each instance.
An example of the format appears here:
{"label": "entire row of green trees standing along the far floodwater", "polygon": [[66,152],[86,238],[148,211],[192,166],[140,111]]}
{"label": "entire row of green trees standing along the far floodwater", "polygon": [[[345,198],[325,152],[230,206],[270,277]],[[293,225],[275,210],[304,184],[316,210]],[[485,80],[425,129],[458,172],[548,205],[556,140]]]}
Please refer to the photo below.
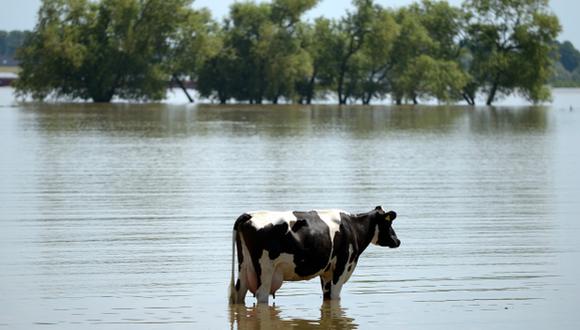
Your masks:
{"label": "entire row of green trees standing along the far floodwater", "polygon": [[157,100],[172,80],[221,103],[550,98],[560,25],[548,0],[353,0],[343,17],[313,21],[303,16],[318,0],[236,2],[221,23],[191,2],[44,0],[17,92]]}

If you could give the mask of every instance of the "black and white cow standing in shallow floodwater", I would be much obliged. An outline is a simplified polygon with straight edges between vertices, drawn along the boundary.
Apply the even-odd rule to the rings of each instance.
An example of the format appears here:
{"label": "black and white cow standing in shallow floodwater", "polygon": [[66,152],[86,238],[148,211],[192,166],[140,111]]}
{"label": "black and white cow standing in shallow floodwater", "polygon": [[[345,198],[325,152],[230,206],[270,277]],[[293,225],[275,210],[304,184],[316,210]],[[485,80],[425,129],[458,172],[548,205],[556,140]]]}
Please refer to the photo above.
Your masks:
{"label": "black and white cow standing in shallow floodwater", "polygon": [[243,303],[248,290],[258,303],[268,303],[283,281],[316,276],[324,299],[340,299],[342,286],[370,243],[390,248],[401,244],[391,226],[396,216],[380,206],[361,214],[341,210],[242,214],[234,224],[230,303]]}

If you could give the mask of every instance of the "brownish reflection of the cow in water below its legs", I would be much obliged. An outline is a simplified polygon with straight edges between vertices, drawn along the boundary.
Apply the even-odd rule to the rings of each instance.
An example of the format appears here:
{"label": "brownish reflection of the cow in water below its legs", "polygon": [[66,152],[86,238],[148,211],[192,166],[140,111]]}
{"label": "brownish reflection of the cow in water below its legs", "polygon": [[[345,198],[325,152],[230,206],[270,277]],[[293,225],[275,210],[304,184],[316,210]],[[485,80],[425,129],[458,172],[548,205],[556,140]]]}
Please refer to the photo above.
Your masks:
{"label": "brownish reflection of the cow in water below its legs", "polygon": [[318,319],[282,318],[282,308],[264,304],[230,305],[231,329],[357,329],[338,301],[325,301]]}

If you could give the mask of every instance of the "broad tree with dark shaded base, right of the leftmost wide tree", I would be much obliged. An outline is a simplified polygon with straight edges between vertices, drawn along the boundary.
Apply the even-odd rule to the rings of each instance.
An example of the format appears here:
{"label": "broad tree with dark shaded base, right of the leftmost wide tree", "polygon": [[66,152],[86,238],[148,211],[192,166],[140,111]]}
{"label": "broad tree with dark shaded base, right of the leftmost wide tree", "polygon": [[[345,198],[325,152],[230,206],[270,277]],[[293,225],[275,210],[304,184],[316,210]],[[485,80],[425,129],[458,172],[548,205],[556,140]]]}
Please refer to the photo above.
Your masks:
{"label": "broad tree with dark shaded base, right of the leftmost wide tree", "polygon": [[295,86],[312,72],[300,19],[317,2],[234,3],[220,32],[221,50],[202,69],[200,93],[220,102],[294,99]]}

